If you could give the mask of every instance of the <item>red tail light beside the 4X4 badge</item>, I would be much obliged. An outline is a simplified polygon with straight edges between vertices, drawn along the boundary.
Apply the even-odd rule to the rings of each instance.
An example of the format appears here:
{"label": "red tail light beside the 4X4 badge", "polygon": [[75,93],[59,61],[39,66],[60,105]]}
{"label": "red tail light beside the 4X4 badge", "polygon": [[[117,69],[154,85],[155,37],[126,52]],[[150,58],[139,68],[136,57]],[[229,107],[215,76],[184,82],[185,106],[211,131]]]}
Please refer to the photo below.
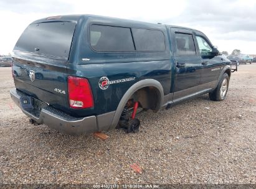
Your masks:
{"label": "red tail light beside the 4X4 badge", "polygon": [[69,106],[82,109],[93,107],[93,96],[90,84],[85,78],[68,77]]}

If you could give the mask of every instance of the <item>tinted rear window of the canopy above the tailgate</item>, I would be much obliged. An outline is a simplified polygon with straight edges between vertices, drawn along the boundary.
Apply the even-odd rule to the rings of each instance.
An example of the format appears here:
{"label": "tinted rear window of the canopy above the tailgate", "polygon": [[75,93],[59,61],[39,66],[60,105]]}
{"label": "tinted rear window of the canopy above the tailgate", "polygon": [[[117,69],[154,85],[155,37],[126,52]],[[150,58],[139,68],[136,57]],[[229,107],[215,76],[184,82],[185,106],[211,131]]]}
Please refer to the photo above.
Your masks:
{"label": "tinted rear window of the canopy above the tailgate", "polygon": [[14,50],[67,59],[75,25],[73,22],[31,24],[22,33]]}

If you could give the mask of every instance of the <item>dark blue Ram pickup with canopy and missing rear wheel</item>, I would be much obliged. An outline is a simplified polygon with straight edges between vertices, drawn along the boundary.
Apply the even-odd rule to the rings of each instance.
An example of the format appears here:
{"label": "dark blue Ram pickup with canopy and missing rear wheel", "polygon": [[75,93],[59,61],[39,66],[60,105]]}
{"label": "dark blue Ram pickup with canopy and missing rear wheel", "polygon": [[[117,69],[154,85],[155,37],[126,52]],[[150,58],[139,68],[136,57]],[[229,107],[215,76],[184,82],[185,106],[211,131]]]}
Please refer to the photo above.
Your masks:
{"label": "dark blue Ram pickup with canopy and missing rear wheel", "polygon": [[198,30],[90,15],[33,22],[13,54],[12,99],[31,122],[69,134],[135,132],[138,108],[158,112],[206,93],[222,101],[231,75]]}

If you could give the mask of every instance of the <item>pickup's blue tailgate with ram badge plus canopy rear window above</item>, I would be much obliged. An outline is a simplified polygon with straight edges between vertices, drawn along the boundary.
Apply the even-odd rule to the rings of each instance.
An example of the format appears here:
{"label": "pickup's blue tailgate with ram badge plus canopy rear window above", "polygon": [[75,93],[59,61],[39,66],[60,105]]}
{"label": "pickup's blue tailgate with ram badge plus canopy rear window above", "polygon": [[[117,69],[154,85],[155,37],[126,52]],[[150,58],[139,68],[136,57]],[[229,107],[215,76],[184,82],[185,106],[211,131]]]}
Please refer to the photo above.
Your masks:
{"label": "pickup's blue tailgate with ram badge plus canopy rear window above", "polygon": [[74,22],[31,24],[16,46],[12,71],[17,90],[56,108],[69,108],[67,62]]}

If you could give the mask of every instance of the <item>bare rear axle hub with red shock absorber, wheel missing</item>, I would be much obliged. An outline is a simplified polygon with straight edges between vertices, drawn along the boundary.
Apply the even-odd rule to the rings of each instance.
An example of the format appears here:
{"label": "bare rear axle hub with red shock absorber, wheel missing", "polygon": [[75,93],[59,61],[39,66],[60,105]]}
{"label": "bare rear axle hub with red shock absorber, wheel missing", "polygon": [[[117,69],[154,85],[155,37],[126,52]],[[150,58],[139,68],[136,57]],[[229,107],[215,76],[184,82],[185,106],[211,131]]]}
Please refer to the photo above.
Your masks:
{"label": "bare rear axle hub with red shock absorber, wheel missing", "polygon": [[139,102],[136,101],[133,104],[133,113],[131,114],[131,118],[127,118],[129,105],[132,104],[131,101],[128,101],[123,112],[121,114],[121,118],[119,121],[119,125],[121,128],[125,129],[127,133],[130,132],[139,132],[140,131],[140,120],[135,118]]}

